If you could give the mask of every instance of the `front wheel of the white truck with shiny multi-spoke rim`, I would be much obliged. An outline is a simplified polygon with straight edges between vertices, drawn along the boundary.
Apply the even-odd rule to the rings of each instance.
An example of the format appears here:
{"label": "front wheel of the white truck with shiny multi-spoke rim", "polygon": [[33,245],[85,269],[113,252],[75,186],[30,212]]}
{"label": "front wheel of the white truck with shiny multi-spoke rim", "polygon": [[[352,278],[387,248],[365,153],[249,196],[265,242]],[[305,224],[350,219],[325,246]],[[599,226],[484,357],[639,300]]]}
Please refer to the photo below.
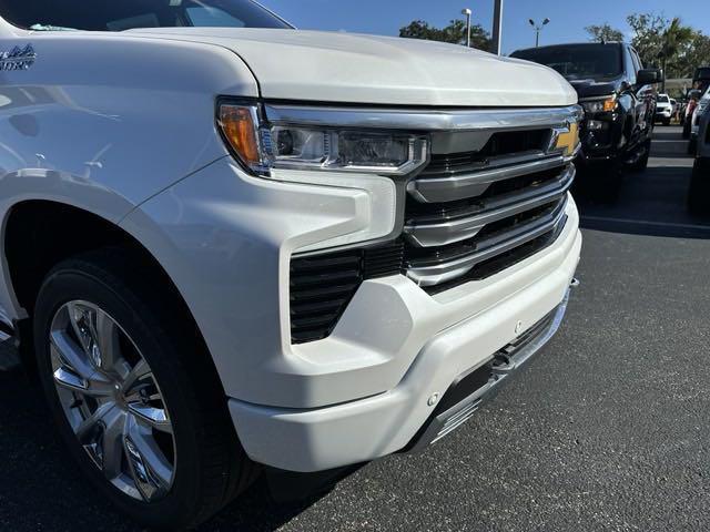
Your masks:
{"label": "front wheel of the white truck with shiny multi-spoke rim", "polygon": [[145,526],[190,528],[230,502],[256,468],[194,326],[140,265],[105,250],[47,276],[34,313],[39,376],[94,485]]}

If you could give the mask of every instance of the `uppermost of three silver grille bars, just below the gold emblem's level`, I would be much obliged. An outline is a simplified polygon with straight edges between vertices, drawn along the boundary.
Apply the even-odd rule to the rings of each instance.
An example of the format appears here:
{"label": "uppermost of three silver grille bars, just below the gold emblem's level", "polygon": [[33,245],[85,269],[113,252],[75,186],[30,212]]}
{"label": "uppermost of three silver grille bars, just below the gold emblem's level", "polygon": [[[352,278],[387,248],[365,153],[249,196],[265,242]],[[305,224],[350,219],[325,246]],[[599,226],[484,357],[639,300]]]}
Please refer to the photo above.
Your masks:
{"label": "uppermost of three silver grille bars, just below the gold emblem's level", "polygon": [[564,165],[565,157],[558,155],[517,164],[515,166],[504,166],[501,168],[453,175],[450,177],[424,177],[410,182],[407,185],[407,191],[422,203],[453,202],[480,196],[493,183],[498,181],[545,172]]}

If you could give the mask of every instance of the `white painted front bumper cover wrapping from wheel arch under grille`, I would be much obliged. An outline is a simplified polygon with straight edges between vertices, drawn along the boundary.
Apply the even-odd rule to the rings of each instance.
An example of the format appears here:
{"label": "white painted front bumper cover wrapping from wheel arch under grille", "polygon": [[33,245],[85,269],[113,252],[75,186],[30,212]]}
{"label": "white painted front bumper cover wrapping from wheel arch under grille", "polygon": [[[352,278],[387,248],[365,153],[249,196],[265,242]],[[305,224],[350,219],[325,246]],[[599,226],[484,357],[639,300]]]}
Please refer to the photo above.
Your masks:
{"label": "white painted front bumper cover wrapping from wheel arch under grille", "polygon": [[537,254],[436,295],[402,275],[365,280],[329,337],[293,345],[294,250],[369,226],[374,205],[361,188],[251,177],[224,158],[122,222],[187,303],[257,462],[321,471],[402,450],[429,398],[560,305],[579,260],[569,196]]}

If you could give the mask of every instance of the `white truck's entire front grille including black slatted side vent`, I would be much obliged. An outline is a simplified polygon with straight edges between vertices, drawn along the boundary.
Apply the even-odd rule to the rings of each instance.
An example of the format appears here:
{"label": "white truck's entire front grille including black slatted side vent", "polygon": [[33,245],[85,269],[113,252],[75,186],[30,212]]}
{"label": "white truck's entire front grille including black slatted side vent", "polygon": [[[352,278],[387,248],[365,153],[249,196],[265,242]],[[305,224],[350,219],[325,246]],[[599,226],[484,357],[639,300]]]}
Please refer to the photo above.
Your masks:
{"label": "white truck's entire front grille including black slatted side vent", "polygon": [[[295,256],[292,341],[326,338],[367,278],[402,274],[434,295],[552,244],[565,228],[576,174],[571,157],[556,147],[568,119],[545,111],[524,117],[530,125],[511,113],[479,130],[434,133],[429,164],[406,183],[397,241]],[[474,150],[454,150],[462,146]]]}

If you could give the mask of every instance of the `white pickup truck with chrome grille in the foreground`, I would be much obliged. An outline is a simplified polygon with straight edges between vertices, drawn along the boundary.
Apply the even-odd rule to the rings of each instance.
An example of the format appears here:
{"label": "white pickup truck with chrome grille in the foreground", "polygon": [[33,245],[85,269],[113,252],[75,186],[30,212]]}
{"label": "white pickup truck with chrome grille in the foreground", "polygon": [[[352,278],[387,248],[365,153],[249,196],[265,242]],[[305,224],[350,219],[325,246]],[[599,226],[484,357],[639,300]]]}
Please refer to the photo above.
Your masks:
{"label": "white pickup truck with chrome grille in the foreground", "polygon": [[581,111],[552,70],[248,0],[0,16],[2,329],[145,525],[436,441],[557,330]]}

